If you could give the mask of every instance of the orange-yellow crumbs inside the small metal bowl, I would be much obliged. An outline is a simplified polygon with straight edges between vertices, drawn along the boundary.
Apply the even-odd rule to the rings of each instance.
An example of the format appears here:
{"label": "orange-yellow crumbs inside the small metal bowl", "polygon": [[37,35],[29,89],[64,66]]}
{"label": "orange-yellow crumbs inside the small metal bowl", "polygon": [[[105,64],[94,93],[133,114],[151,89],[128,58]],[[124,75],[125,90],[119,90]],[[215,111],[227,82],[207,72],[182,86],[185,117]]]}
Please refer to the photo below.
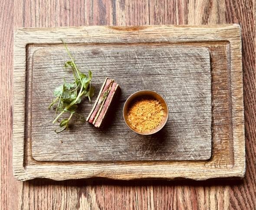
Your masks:
{"label": "orange-yellow crumbs inside the small metal bowl", "polygon": [[153,130],[164,116],[163,108],[156,99],[136,100],[128,111],[128,121],[140,132]]}

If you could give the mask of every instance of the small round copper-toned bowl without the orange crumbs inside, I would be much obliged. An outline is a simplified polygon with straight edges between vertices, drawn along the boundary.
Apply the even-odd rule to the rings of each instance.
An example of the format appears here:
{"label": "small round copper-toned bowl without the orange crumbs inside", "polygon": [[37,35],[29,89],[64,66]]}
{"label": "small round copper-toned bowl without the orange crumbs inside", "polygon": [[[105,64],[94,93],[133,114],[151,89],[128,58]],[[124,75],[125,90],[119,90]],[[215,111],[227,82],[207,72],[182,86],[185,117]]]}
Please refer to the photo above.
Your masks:
{"label": "small round copper-toned bowl without the orange crumbs inside", "polygon": [[[145,131],[145,132],[141,132],[139,130],[134,129],[131,126],[131,123],[128,121],[128,111],[129,111],[131,103],[134,102],[134,100],[136,100],[138,98],[141,98],[141,97],[151,97],[151,98],[157,99],[160,102],[160,104],[161,104],[161,106],[163,108],[163,112],[164,112],[163,119],[159,123],[159,125],[157,127],[155,127],[153,130],[149,130],[149,131]],[[131,130],[133,130],[135,133],[142,134],[142,135],[155,134],[156,132],[161,130],[164,127],[164,125],[166,124],[166,122],[167,122],[168,115],[169,115],[169,111],[168,111],[168,106],[167,106],[166,101],[164,100],[164,98],[161,95],[159,95],[157,92],[154,92],[152,90],[140,90],[140,91],[137,91],[137,92],[133,93],[126,100],[124,108],[123,108],[123,117],[124,117],[126,125]]]}

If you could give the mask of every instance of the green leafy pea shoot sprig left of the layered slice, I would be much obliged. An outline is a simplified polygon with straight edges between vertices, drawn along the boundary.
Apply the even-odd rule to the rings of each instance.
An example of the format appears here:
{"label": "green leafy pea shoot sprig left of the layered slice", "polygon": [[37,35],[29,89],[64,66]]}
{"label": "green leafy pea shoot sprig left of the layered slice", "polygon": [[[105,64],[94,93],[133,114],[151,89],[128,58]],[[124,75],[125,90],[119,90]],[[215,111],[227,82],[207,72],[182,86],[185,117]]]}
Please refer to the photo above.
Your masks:
{"label": "green leafy pea shoot sprig left of the layered slice", "polygon": [[64,113],[69,113],[69,118],[62,119],[60,121],[59,130],[55,130],[56,133],[62,132],[65,129],[69,128],[69,122],[73,115],[78,115],[81,121],[84,121],[85,118],[82,115],[76,113],[79,103],[81,103],[82,98],[88,98],[91,102],[91,98],[94,95],[95,88],[91,85],[92,72],[89,70],[88,76],[77,68],[75,64],[75,59],[69,52],[66,42],[61,40],[70,59],[64,65],[65,68],[70,68],[73,73],[74,82],[68,83],[65,78],[62,85],[56,87],[53,92],[53,95],[56,97],[53,102],[49,105],[48,109],[56,110],[56,118],[53,120],[53,124],[59,122],[59,118]]}

